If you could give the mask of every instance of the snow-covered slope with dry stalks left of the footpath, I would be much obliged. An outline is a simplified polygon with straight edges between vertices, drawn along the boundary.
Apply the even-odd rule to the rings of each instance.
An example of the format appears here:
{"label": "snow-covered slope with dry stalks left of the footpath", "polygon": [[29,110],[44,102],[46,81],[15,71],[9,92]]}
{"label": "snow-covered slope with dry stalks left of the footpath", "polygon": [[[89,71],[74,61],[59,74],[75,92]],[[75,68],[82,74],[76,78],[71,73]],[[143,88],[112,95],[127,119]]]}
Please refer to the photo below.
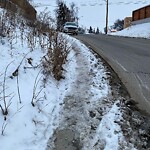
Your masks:
{"label": "snow-covered slope with dry stalks left of the footpath", "polygon": [[45,82],[42,62],[48,38],[33,36],[23,19],[15,18],[11,24],[9,17],[4,18],[10,29],[0,36],[0,149],[44,150],[58,126],[65,93],[75,80],[73,41],[66,39],[70,53],[63,66],[65,79],[58,82],[49,75]]}

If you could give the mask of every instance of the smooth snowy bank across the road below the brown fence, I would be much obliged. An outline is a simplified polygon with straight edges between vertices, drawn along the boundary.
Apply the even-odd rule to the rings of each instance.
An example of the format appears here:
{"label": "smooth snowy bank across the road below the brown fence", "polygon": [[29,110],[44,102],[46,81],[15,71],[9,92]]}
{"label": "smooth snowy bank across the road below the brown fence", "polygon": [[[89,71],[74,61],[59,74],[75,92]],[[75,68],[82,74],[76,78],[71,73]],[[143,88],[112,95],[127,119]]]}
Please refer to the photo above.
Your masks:
{"label": "smooth snowy bank across the road below the brown fence", "polygon": [[132,25],[122,31],[110,33],[110,35],[150,39],[150,23]]}

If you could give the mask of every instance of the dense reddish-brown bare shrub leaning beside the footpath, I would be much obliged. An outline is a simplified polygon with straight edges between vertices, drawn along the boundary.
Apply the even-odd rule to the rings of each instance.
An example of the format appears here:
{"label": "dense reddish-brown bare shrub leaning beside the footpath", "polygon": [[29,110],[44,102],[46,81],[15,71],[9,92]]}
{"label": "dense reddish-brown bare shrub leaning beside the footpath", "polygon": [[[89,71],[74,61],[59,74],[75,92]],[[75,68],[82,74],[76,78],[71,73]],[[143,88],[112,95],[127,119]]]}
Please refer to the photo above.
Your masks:
{"label": "dense reddish-brown bare shrub leaning beside the footpath", "polygon": [[43,59],[43,73],[46,76],[52,75],[58,81],[64,78],[63,64],[66,63],[69,52],[70,47],[65,36],[58,32],[49,34],[49,48]]}

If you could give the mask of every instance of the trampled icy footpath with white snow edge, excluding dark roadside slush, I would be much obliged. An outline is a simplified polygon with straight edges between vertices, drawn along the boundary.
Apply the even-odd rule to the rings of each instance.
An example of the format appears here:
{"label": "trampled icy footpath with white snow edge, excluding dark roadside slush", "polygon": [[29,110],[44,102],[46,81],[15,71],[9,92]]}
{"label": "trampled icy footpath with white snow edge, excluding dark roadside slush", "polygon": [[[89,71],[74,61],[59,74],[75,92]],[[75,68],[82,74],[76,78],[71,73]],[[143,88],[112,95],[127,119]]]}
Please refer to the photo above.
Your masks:
{"label": "trampled icy footpath with white snow edge, excluding dark roadside slush", "polygon": [[61,121],[46,150],[107,150],[112,146],[117,150],[123,135],[114,121],[120,120],[121,113],[111,95],[107,71],[83,44],[76,41],[74,48],[77,78],[66,93]]}

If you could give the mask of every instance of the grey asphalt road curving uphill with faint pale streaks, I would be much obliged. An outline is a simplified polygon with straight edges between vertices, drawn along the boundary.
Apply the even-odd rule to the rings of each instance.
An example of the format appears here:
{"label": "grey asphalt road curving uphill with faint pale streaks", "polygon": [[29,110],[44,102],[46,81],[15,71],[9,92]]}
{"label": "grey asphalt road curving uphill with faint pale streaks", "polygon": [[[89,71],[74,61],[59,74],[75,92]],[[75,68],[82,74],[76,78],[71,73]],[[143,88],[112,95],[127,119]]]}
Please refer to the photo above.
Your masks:
{"label": "grey asphalt road curving uphill with faint pale streaks", "polygon": [[78,35],[118,74],[138,107],[150,114],[150,40],[108,35]]}

